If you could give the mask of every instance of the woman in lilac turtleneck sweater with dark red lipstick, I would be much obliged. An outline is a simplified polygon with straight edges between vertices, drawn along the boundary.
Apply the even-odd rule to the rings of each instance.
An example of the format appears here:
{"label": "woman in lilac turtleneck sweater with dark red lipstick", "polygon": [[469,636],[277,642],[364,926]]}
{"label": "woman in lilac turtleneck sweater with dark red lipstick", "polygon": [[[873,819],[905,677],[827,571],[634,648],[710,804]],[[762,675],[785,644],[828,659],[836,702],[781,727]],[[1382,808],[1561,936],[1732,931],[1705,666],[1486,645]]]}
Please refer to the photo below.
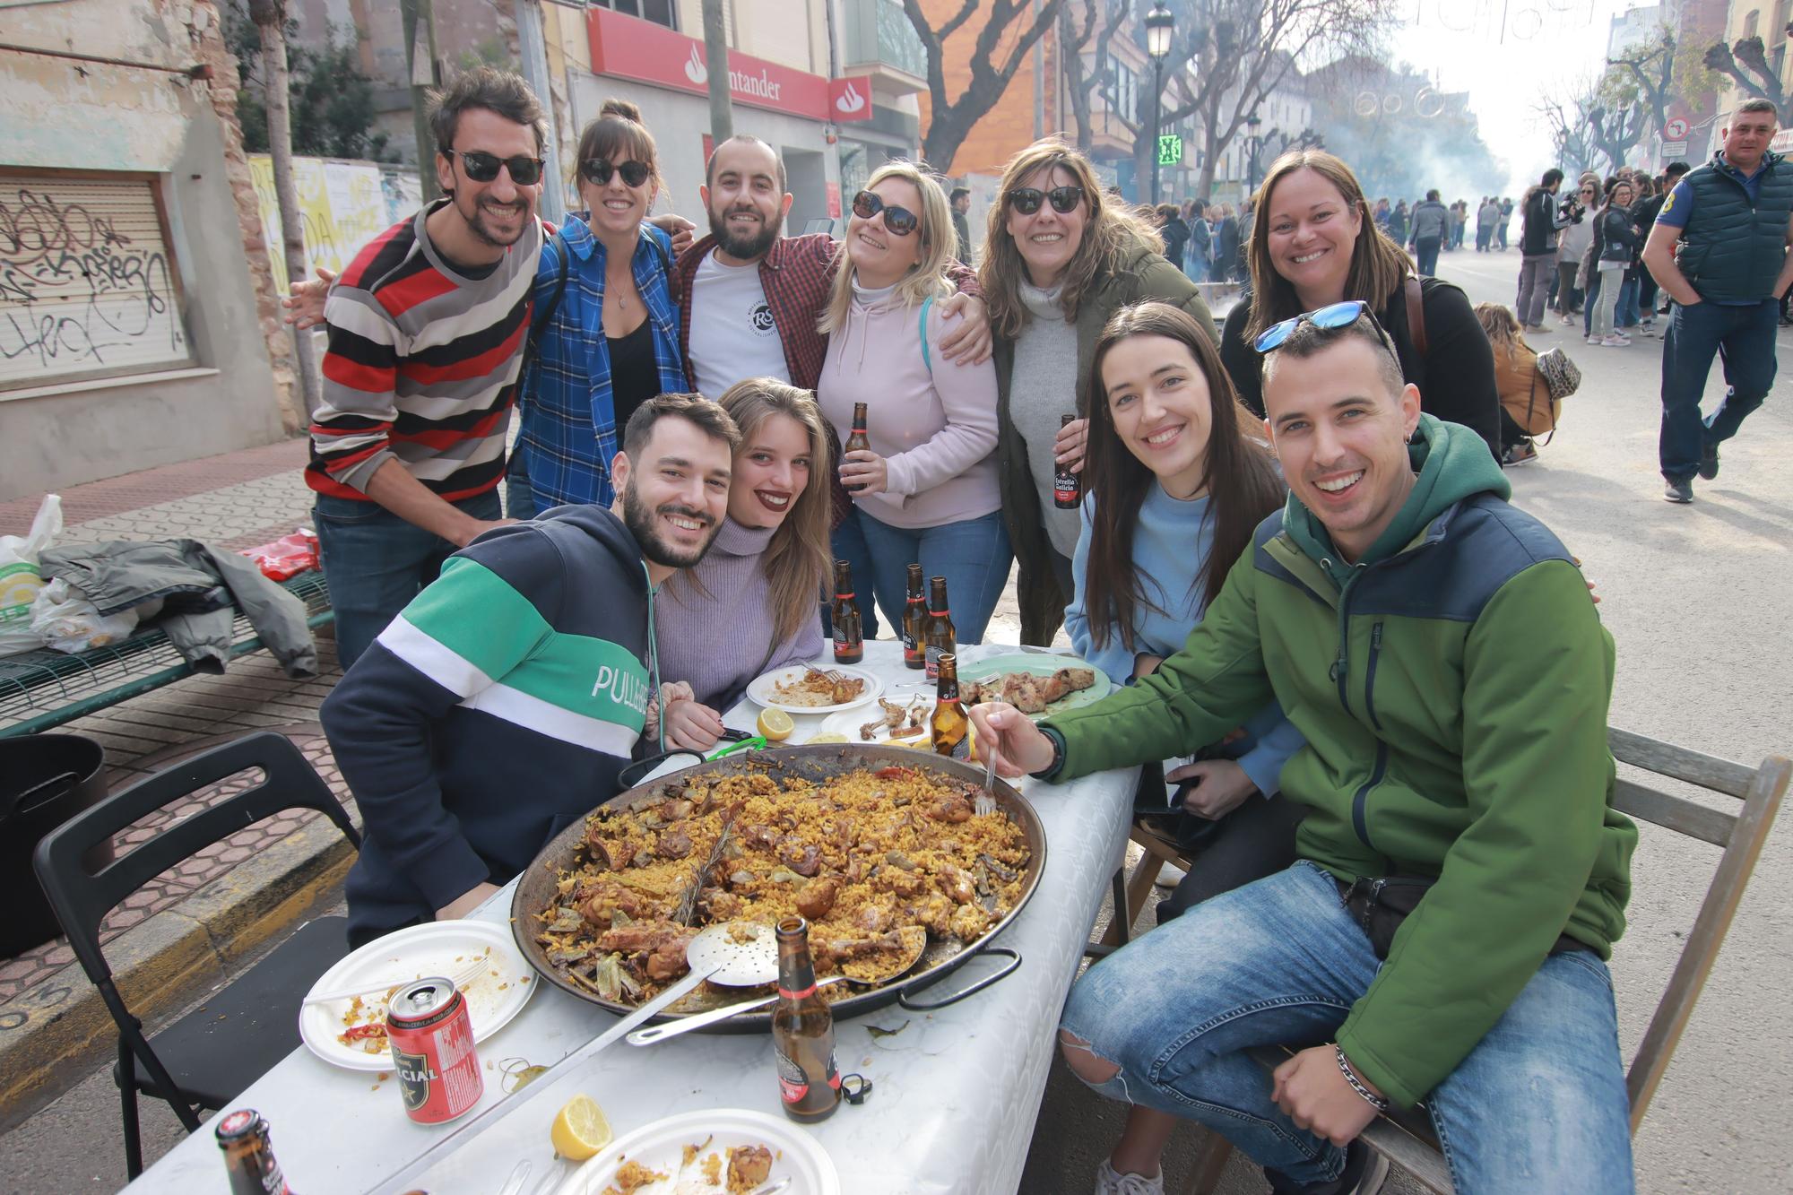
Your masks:
{"label": "woman in lilac turtleneck sweater with dark red lipstick", "polygon": [[705,558],[660,590],[667,743],[708,750],[719,711],[773,667],[821,655],[828,576],[828,432],[809,391],[769,377],[719,400],[741,427],[728,517]]}

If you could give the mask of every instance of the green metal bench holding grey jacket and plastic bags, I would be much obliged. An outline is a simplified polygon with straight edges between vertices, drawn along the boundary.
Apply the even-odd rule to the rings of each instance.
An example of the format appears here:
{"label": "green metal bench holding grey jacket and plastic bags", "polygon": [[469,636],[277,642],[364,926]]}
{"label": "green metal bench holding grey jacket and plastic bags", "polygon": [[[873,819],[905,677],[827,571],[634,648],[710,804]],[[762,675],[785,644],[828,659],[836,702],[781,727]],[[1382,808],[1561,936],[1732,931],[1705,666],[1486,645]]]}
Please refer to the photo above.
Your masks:
{"label": "green metal bench holding grey jacket and plastic bags", "polygon": [[[321,571],[299,572],[283,585],[305,603],[305,621],[314,630],[335,617]],[[262,639],[238,614],[230,657],[260,648]],[[48,730],[192,675],[194,667],[154,624],[74,655],[41,648],[0,657],[0,737]]]}

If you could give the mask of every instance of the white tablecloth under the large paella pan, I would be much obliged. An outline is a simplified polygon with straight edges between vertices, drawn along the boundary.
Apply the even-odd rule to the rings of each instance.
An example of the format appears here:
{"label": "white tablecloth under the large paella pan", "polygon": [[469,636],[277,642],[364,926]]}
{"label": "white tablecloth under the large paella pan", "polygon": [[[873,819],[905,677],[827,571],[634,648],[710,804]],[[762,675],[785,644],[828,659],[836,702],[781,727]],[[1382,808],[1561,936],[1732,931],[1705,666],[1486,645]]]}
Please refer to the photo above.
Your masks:
{"label": "white tablecloth under the large paella pan", "polygon": [[[970,664],[1013,650],[966,648],[963,660]],[[866,644],[864,667],[888,684],[918,676],[904,669],[900,646],[888,641]],[[751,728],[757,712],[744,702],[726,721]],[[819,723],[818,718],[796,721],[794,739],[803,739]],[[891,1005],[836,1025],[841,1071],[859,1071],[875,1084],[862,1105],[843,1103],[832,1118],[809,1129],[834,1157],[845,1191],[983,1195],[1017,1190],[1045,1091],[1058,1014],[1108,879],[1126,850],[1133,784],[1131,772],[1061,786],[1022,781],[1022,793],[1045,825],[1047,859],[1033,899],[997,940],[1020,951],[1020,969],[940,1012],[918,1014]],[[477,917],[504,920],[509,906],[511,886],[506,886]],[[918,999],[938,999],[1002,962],[974,960]],[[481,1044],[479,1055],[493,1064],[511,1057],[550,1064],[615,1019],[543,983],[511,1025]],[[902,1026],[902,1032],[873,1039],[870,1025]],[[561,1166],[552,1159],[549,1123],[559,1105],[581,1091],[604,1107],[617,1136],[703,1107],[778,1114],[766,1035],[687,1034],[645,1048],[619,1042],[556,1078],[554,1087],[445,1159],[416,1186],[430,1195],[491,1195],[516,1161],[527,1157],[533,1173],[525,1191],[533,1191],[543,1175]],[[488,1069],[481,1107],[502,1098],[500,1075]],[[274,1154],[301,1195],[364,1191],[446,1130],[412,1123],[403,1114],[394,1080],[380,1084],[375,1075],[337,1069],[305,1048],[294,1050],[231,1107],[255,1107],[267,1118]],[[181,1141],[131,1190],[228,1191],[212,1129],[208,1121]]]}

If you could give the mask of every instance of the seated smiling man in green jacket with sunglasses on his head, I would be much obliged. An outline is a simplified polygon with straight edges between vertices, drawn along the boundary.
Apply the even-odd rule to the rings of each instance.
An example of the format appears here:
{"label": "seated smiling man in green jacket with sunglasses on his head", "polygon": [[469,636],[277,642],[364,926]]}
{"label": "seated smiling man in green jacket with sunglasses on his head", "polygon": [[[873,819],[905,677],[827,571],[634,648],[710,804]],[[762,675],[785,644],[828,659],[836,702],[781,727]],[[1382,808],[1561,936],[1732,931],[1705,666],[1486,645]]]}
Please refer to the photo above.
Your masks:
{"label": "seated smiling man in green jacket with sunglasses on his head", "polygon": [[[1460,1191],[1630,1191],[1605,960],[1637,831],[1610,807],[1612,637],[1481,440],[1420,414],[1345,307],[1262,337],[1289,502],[1183,650],[1040,727],[972,711],[999,770],[1049,781],[1185,754],[1271,700],[1307,739],[1280,777],[1309,807],[1300,861],[1070,994],[1070,1068],[1137,1105],[1097,1190],[1162,1190],[1182,1116],[1273,1190],[1372,1191],[1357,1136],[1424,1098]],[[1284,1042],[1309,1048],[1273,1077],[1244,1053]]]}

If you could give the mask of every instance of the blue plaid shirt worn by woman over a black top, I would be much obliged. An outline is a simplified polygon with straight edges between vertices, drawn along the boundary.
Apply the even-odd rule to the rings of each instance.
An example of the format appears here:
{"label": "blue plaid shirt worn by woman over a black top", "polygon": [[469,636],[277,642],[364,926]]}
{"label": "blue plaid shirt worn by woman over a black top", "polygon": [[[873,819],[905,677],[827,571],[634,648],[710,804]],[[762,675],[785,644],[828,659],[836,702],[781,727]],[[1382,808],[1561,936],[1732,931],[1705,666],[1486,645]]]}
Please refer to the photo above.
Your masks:
{"label": "blue plaid shirt worn by woman over a black top", "polygon": [[[581,217],[559,228],[559,239],[541,242],[536,267],[536,310],[554,298],[561,246],[572,253],[567,291],[541,332],[540,355],[524,379],[522,425],[516,450],[524,454],[534,513],[567,502],[610,506],[610,459],[617,454],[617,416],[610,400],[610,345],[604,343],[604,246]],[[667,271],[671,242],[642,224],[635,242],[635,289],[647,303],[653,325],[660,393],[681,393],[685,357],[678,343],[678,305]]]}

